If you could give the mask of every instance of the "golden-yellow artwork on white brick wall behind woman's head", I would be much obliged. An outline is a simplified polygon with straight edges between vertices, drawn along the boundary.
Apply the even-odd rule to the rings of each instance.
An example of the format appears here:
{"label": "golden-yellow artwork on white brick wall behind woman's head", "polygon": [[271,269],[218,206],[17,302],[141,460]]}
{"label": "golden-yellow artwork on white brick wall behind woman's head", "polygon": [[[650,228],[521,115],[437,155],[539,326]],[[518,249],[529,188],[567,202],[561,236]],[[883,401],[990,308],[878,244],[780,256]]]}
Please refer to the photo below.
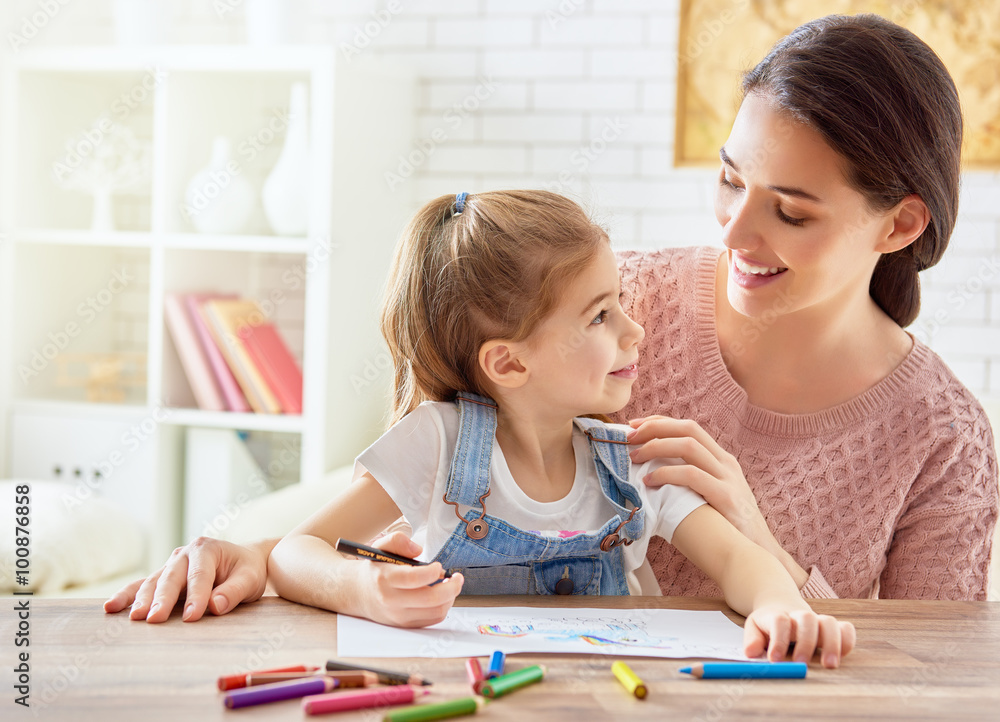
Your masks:
{"label": "golden-yellow artwork on white brick wall behind woman's head", "polygon": [[931,46],[965,116],[963,167],[1000,169],[1000,13],[996,0],[681,0],[674,164],[714,166],[740,80],[780,38],[827,14],[876,13]]}

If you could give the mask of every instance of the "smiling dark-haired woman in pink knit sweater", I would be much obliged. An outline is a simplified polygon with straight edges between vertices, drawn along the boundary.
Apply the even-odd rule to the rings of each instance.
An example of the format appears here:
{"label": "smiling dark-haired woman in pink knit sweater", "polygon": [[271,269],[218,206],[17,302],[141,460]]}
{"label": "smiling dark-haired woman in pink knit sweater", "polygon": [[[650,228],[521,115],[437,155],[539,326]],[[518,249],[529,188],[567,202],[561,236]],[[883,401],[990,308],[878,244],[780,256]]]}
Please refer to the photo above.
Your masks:
{"label": "smiling dark-haired woman in pink knit sweater", "polygon": [[[633,459],[684,459],[647,483],[702,494],[804,596],[984,599],[989,423],[903,330],[957,215],[954,83],[909,31],[830,16],[743,91],[715,196],[726,251],[620,256],[646,339],[616,420],[672,417],[633,422]],[[133,619],[162,621],[187,586],[185,619],[225,613],[263,593],[273,544],[196,540],[105,609],[135,599]],[[401,534],[381,544],[415,553]],[[665,594],[719,594],[666,543],[649,557]]]}

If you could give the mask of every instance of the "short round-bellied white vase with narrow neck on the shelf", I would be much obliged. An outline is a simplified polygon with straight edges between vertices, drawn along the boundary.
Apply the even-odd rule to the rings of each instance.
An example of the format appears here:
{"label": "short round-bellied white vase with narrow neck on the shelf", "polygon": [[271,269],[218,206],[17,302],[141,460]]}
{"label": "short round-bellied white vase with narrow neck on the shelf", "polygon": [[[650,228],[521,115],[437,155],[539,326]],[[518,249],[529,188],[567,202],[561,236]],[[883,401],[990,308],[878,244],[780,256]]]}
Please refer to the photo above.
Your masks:
{"label": "short round-bellied white vase with narrow neck on the shelf", "polygon": [[184,193],[184,215],[199,233],[240,233],[253,212],[253,186],[233,161],[229,138],[212,142],[212,159]]}

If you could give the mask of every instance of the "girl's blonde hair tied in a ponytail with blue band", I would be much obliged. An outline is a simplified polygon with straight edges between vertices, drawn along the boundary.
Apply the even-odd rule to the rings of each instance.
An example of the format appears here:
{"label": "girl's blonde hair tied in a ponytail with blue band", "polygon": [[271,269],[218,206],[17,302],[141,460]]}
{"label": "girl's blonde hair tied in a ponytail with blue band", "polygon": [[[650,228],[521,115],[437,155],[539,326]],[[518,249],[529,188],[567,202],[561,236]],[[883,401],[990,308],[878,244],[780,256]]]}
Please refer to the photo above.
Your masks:
{"label": "girl's blonde hair tied in a ponytail with blue band", "polygon": [[604,230],[548,191],[490,191],[421,208],[396,247],[381,329],[395,370],[390,423],[459,391],[491,396],[490,339],[521,341],[594,257]]}

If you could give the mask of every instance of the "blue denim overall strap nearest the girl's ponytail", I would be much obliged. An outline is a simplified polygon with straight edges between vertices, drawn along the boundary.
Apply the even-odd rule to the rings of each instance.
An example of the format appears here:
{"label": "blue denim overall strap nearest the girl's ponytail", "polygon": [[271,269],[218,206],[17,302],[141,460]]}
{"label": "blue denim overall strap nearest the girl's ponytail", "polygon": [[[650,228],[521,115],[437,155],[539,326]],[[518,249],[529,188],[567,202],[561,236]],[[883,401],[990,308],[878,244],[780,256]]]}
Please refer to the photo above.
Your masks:
{"label": "blue denim overall strap nearest the girl's ponytail", "polygon": [[490,488],[490,459],[497,430],[497,406],[492,399],[459,392],[458,438],[451,458],[451,471],[445,487],[450,503],[478,507],[480,498]]}

